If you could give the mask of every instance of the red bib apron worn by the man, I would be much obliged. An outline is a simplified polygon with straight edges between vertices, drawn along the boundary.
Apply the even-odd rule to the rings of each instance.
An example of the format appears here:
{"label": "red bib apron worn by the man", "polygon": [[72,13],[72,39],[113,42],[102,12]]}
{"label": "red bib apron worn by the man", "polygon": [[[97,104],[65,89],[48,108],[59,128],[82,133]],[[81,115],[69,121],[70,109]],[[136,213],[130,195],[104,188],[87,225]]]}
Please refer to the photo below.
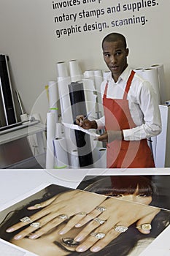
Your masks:
{"label": "red bib apron worn by the man", "polygon": [[[135,72],[132,71],[125,87],[123,99],[107,99],[107,87],[104,90],[104,116],[106,130],[132,129],[136,127],[128,107],[128,91]],[[155,167],[152,152],[144,140],[114,140],[107,143],[108,168]]]}

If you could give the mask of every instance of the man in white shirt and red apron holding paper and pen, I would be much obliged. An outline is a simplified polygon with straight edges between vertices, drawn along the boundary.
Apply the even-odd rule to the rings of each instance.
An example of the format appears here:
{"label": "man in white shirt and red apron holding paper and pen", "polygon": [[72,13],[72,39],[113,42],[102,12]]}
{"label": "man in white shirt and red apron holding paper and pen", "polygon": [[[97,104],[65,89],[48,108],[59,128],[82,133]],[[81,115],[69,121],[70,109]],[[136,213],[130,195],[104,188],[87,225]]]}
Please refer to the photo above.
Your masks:
{"label": "man in white shirt and red apron holding paper and pen", "polygon": [[90,121],[77,117],[84,129],[106,129],[98,137],[107,142],[107,167],[155,167],[147,139],[161,132],[158,100],[150,83],[128,67],[128,48],[122,34],[102,41],[110,73],[101,84],[104,116]]}

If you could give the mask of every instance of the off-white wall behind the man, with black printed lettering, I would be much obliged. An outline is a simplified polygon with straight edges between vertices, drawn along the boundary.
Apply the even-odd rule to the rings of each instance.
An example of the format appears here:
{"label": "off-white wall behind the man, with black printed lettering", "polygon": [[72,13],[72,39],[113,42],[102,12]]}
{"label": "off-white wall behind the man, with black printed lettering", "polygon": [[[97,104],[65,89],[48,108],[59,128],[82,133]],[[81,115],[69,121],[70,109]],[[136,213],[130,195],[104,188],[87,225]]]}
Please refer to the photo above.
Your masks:
{"label": "off-white wall behind the man, with black printed lettering", "polygon": [[[79,0],[74,0],[78,3]],[[148,67],[163,64],[166,76],[167,99],[170,99],[170,1],[169,0],[87,0],[88,4],[53,10],[53,2],[65,4],[64,0],[0,0],[0,53],[7,54],[12,69],[12,83],[20,92],[27,113],[40,113],[45,121],[47,95],[45,86],[56,80],[55,64],[58,61],[77,59],[82,71],[106,69],[101,53],[101,39],[111,31],[123,33],[128,41],[132,67]],[[73,1],[70,1],[73,2]],[[142,7],[142,3],[149,5]],[[119,6],[120,4],[120,6]],[[123,11],[123,4],[141,7],[132,12]],[[154,5],[155,6],[150,6]],[[117,7],[117,12],[107,14],[107,7]],[[119,9],[120,7],[120,9]],[[82,10],[101,10],[105,14],[63,22],[54,22],[55,16],[76,14]],[[134,15],[134,16],[133,16]],[[57,38],[56,29],[83,26],[85,23],[110,24],[112,20],[144,16],[147,22],[117,26],[103,31],[82,31],[69,37]]]}

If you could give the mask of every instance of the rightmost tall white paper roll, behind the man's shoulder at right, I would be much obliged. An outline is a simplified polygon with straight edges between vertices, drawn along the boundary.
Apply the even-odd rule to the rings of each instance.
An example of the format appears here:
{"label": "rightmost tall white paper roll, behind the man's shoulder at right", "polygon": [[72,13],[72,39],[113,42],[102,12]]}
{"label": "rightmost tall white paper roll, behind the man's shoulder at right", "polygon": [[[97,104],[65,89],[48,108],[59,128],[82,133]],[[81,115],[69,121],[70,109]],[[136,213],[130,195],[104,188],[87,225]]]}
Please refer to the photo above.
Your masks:
{"label": "rightmost tall white paper roll, behind the man's shoulder at right", "polygon": [[166,94],[166,81],[165,81],[165,74],[164,74],[164,68],[163,64],[153,64],[153,69],[157,69],[158,71],[158,80],[159,80],[159,89],[161,94],[161,104],[165,104],[167,98]]}

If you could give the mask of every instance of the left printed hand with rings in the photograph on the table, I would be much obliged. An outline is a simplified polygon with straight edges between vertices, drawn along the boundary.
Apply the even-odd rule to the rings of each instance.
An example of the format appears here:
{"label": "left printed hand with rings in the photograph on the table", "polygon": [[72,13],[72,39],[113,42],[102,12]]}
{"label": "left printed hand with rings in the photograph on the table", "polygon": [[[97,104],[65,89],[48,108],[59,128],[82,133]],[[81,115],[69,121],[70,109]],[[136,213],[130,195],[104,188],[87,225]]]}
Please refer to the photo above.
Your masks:
{"label": "left printed hand with rings in the photograph on the table", "polygon": [[26,236],[32,239],[39,238],[39,236],[49,232],[54,227],[57,227],[65,220],[69,220],[69,218],[72,217],[68,222],[69,227],[67,227],[67,229],[69,228],[70,230],[85,216],[85,214],[92,211],[98,204],[106,200],[106,198],[107,197],[103,195],[92,194],[80,190],[63,192],[43,203],[28,207],[28,210],[30,211],[35,210],[36,208],[39,208],[39,211],[26,219],[26,222],[24,222],[24,220],[18,222],[12,227],[7,228],[6,231],[11,233],[15,230],[19,230],[20,227],[36,223],[37,227],[34,227],[34,230],[37,230],[34,233],[32,233],[32,227],[29,225],[24,230],[18,231],[18,234],[14,236],[14,239],[18,240]]}

